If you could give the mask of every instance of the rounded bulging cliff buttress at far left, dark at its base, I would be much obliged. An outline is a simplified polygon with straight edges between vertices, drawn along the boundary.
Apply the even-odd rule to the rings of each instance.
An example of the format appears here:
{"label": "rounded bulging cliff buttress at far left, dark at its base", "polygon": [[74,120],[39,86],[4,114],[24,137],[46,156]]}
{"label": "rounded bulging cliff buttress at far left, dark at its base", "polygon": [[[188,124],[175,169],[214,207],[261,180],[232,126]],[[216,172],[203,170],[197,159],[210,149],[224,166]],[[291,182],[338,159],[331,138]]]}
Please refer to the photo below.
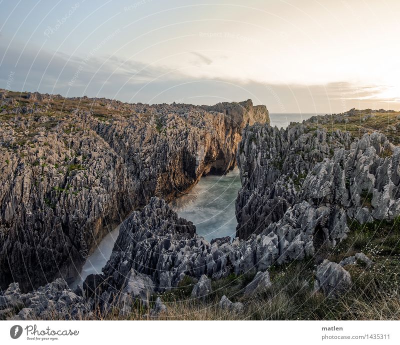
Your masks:
{"label": "rounded bulging cliff buttress at far left, dark at its base", "polygon": [[122,158],[90,129],[69,133],[65,121],[47,131],[53,121],[37,119],[37,134],[23,145],[10,123],[0,129],[1,287],[19,281],[27,290],[72,277],[132,208]]}

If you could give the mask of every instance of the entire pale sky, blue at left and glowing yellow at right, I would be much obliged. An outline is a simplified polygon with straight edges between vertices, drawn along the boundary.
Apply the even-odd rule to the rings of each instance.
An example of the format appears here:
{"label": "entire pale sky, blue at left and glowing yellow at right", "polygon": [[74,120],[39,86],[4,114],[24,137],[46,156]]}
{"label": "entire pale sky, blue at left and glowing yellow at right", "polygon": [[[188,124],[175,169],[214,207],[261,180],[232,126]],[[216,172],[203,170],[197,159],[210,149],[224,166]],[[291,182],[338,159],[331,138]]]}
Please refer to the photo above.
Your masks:
{"label": "entire pale sky, blue at left and glowing yellow at right", "polygon": [[0,0],[0,88],[400,110],[398,0]]}

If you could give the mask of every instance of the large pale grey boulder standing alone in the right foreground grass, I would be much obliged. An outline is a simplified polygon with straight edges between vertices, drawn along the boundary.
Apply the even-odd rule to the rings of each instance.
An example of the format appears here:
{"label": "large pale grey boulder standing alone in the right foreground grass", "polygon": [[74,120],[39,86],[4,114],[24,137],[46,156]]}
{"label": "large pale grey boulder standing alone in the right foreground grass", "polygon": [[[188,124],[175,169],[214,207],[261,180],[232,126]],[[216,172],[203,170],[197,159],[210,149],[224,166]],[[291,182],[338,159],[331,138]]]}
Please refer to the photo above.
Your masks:
{"label": "large pale grey boulder standing alone in the right foreground grass", "polygon": [[343,267],[329,260],[323,260],[315,273],[314,291],[327,296],[337,296],[351,288],[351,276]]}

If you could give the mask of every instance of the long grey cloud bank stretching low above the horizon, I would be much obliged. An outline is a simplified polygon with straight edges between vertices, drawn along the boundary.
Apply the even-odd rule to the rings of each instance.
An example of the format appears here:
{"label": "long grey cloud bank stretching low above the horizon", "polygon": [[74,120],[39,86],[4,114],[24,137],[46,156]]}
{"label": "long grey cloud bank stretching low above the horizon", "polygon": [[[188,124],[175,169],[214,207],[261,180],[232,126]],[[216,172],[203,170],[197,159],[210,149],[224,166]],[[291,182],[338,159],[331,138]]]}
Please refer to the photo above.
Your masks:
{"label": "long grey cloud bank stretching low above the horizon", "polygon": [[[0,87],[142,103],[176,101],[215,104],[251,98],[254,104],[265,104],[271,113],[339,113],[351,108],[400,109],[395,100],[381,96],[387,89],[383,85],[357,86],[346,81],[324,85],[286,85],[228,78],[200,79],[167,67],[118,56],[95,55],[84,60],[62,53],[37,52],[34,48],[24,50],[15,66],[21,51],[21,47],[13,46],[6,52],[0,66]],[[201,54],[192,54],[211,63]],[[14,74],[8,87],[10,72]],[[69,85],[76,74],[74,82]]]}

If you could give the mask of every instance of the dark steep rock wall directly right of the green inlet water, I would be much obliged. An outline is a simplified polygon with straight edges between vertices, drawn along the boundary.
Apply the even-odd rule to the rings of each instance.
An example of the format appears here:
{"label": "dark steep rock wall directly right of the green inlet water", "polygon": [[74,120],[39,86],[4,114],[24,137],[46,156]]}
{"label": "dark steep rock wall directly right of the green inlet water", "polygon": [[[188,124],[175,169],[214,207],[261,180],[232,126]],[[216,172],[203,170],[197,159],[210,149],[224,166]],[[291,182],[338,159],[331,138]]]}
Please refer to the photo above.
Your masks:
{"label": "dark steep rock wall directly right of the green inlet water", "polygon": [[242,188],[236,200],[236,235],[248,238],[280,220],[298,199],[308,171],[350,139],[339,131],[327,136],[304,125],[246,127],[237,152]]}

